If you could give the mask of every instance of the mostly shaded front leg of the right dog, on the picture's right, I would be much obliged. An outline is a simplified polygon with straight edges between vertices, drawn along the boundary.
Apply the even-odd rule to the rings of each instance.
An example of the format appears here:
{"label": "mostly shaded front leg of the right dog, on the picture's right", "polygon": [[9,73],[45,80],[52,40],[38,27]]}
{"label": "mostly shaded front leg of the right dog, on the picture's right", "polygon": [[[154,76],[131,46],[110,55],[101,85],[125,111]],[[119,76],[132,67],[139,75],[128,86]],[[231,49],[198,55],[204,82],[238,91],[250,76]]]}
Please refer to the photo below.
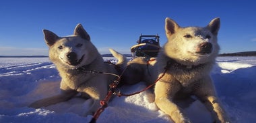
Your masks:
{"label": "mostly shaded front leg of the right dog, on the picture's right", "polygon": [[201,102],[205,104],[206,108],[214,114],[216,122],[230,122],[220,100],[218,99],[211,78],[204,78],[199,82],[199,84],[197,84],[197,87],[199,88],[195,90],[195,96],[197,96]]}

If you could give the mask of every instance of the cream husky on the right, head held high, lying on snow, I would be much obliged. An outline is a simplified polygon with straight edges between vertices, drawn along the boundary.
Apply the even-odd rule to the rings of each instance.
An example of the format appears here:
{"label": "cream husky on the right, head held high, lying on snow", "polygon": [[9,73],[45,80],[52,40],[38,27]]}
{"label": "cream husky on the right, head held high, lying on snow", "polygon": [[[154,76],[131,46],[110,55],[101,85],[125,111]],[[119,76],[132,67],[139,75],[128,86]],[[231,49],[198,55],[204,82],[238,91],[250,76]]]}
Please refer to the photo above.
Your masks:
{"label": "cream husky on the right, head held high, lying on snow", "polygon": [[[217,43],[220,18],[215,18],[205,27],[180,27],[172,19],[166,18],[166,37],[157,56],[156,64],[146,67],[141,58],[127,64],[129,75],[124,75],[124,82],[132,82],[131,77],[152,83],[156,82],[155,103],[174,122],[190,122],[175,100],[195,95],[212,112],[216,122],[229,122],[217,97],[210,71],[218,56]],[[143,73],[143,77],[131,74]],[[166,72],[164,72],[166,71]],[[137,81],[139,82],[139,81]]]}

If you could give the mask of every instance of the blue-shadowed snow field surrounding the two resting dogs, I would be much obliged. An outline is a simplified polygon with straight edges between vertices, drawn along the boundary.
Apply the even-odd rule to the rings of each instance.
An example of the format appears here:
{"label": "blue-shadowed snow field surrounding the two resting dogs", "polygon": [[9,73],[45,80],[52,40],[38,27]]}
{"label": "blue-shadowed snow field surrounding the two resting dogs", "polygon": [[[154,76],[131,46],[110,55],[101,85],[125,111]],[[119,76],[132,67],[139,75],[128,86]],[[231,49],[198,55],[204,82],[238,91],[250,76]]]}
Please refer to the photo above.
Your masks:
{"label": "blue-shadowed snow field surrounding the two resting dogs", "polygon": [[[107,59],[107,58],[105,58]],[[113,59],[113,58],[108,58]],[[113,59],[115,61],[115,59]],[[256,57],[218,57],[212,70],[216,90],[232,122],[256,122]],[[0,122],[89,122],[83,116],[90,100],[73,98],[46,108],[28,108],[35,100],[59,93],[61,78],[44,58],[0,58]],[[143,82],[121,88],[131,93]],[[192,122],[212,122],[198,100],[186,102]],[[151,90],[130,97],[115,97],[97,122],[171,122],[154,104]]]}

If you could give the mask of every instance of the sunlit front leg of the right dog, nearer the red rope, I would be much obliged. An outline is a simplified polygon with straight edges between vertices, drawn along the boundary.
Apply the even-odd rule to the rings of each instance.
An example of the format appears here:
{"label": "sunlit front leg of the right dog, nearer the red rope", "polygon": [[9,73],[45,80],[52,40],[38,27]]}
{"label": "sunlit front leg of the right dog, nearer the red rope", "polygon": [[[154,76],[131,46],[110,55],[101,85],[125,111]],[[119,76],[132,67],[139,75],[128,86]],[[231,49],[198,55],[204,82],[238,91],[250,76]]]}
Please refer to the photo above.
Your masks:
{"label": "sunlit front leg of the right dog, nearer the red rope", "polygon": [[182,109],[172,102],[174,95],[177,94],[180,89],[181,84],[179,84],[177,80],[172,82],[164,80],[158,81],[155,88],[155,102],[158,108],[168,114],[174,122],[190,122]]}

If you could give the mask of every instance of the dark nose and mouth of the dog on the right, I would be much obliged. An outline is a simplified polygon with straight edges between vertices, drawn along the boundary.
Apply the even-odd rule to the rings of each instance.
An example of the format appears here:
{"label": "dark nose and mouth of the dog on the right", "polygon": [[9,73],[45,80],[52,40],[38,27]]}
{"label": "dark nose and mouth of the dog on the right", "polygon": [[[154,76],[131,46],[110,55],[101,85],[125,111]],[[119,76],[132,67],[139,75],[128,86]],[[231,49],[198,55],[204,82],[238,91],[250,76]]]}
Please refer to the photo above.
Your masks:
{"label": "dark nose and mouth of the dog on the right", "polygon": [[199,44],[195,53],[199,53],[200,55],[212,53],[212,43],[204,42]]}

